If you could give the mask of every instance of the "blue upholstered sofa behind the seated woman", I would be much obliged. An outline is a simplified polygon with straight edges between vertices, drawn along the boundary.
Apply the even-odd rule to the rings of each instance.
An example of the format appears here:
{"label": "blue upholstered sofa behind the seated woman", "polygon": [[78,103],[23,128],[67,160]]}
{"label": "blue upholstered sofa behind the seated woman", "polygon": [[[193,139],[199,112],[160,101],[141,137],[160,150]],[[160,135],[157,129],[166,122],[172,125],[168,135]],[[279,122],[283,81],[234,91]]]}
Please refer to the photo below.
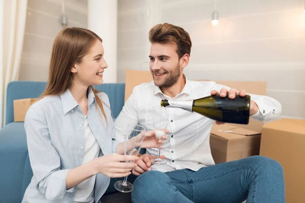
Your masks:
{"label": "blue upholstered sofa behind the seated woman", "polygon": [[[27,152],[24,122],[14,122],[13,100],[37,98],[45,87],[46,82],[28,81],[11,82],[7,87],[6,124],[0,129],[0,202],[21,202],[24,191],[33,176]],[[108,95],[113,117],[116,118],[124,106],[125,84],[102,84],[95,88]],[[128,180],[133,182],[135,178],[131,175]],[[105,194],[110,195],[116,191],[113,184],[117,180],[111,179]],[[126,201],[115,200],[115,198],[108,198],[111,199],[109,202],[130,202],[130,198],[126,196],[120,197],[121,199],[129,198]]]}

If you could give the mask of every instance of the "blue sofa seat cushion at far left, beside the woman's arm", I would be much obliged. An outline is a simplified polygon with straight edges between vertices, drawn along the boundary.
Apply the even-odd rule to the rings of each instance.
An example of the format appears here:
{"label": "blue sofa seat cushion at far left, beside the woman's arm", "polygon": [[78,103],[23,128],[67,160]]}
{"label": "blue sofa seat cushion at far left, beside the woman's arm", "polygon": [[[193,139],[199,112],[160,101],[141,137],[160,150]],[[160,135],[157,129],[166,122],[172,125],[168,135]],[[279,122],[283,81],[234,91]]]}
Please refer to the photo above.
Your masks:
{"label": "blue sofa seat cushion at far left, beside the woman's arm", "polygon": [[21,202],[33,176],[23,124],[9,123],[0,130],[1,202]]}

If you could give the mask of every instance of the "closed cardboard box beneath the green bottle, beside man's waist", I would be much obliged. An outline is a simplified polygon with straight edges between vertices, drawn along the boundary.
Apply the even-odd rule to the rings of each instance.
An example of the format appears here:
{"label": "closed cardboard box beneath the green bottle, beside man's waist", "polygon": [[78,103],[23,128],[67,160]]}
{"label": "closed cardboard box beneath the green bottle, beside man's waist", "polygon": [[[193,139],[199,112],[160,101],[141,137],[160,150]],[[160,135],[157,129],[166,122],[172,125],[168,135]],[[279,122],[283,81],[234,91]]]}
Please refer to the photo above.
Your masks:
{"label": "closed cardboard box beneath the green bottle, beside man's waist", "polygon": [[211,153],[215,163],[259,155],[260,132],[229,124],[214,125],[210,134]]}

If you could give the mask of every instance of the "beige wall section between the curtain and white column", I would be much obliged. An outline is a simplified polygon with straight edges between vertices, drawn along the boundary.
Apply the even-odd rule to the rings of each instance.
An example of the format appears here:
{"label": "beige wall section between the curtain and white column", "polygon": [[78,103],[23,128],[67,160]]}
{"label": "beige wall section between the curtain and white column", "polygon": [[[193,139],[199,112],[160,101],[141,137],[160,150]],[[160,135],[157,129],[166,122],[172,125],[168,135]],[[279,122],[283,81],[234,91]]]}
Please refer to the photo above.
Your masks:
{"label": "beige wall section between the curtain and white column", "polygon": [[[68,26],[87,27],[87,1],[64,0]],[[47,81],[54,38],[60,24],[61,0],[28,0],[19,80]]]}

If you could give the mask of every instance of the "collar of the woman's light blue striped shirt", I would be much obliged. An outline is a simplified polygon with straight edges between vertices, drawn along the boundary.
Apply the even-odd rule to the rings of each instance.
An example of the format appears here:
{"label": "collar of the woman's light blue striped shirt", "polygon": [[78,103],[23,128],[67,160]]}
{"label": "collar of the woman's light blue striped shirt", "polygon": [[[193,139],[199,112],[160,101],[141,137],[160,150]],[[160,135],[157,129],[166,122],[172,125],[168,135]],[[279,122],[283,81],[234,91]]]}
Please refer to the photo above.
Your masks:
{"label": "collar of the woman's light blue striped shirt", "polygon": [[[88,96],[88,106],[96,103],[96,98],[93,92],[93,89],[89,86],[87,90]],[[62,94],[60,94],[60,98],[62,99],[64,114],[68,113],[75,107],[79,106],[73,95],[71,94],[69,88]]]}

